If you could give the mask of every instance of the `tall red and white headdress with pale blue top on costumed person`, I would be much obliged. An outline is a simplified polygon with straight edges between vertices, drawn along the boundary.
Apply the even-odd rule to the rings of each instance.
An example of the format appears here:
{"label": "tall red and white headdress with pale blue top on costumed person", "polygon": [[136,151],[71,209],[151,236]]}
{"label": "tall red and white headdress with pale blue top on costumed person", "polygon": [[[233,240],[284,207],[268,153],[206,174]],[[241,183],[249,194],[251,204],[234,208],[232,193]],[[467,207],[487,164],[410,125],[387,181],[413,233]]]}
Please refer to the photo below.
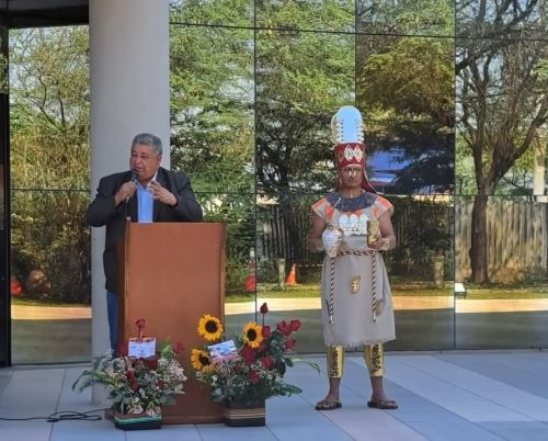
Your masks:
{"label": "tall red and white headdress with pale blue top on costumed person", "polygon": [[343,105],[336,111],[331,118],[331,137],[334,143],[336,169],[340,171],[346,166],[362,166],[362,189],[376,193],[365,174],[364,123],[356,108]]}

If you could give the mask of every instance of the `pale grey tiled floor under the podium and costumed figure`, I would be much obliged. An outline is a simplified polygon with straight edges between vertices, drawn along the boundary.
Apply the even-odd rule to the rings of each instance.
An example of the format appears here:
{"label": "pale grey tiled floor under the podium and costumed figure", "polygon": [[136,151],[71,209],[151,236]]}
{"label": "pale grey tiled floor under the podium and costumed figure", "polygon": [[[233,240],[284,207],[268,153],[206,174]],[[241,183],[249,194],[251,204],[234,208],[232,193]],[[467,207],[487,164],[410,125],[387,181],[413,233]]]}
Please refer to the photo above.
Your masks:
{"label": "pale grey tiled floor under the podium and costumed figure", "polygon": [[[323,358],[313,358],[322,365]],[[368,409],[370,393],[364,362],[349,357],[343,408],[318,412],[326,378],[304,364],[288,382],[304,388],[289,398],[267,400],[263,428],[222,425],[163,426],[123,432],[101,421],[0,420],[0,441],[79,440],[548,440],[548,352],[444,352],[387,354],[386,391],[398,400],[393,411]],[[47,416],[93,409],[89,394],[75,394],[82,366],[0,370],[0,418]]]}

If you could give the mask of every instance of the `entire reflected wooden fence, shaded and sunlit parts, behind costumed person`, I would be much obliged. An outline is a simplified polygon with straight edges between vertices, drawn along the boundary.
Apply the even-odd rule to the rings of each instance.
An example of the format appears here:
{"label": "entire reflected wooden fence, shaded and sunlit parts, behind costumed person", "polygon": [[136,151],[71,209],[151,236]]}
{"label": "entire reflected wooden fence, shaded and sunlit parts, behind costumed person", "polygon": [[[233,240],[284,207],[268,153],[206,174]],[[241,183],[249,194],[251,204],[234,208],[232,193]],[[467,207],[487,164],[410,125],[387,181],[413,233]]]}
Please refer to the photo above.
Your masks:
{"label": "entire reflected wooden fence, shaded and sunlit parts, behind costumed person", "polygon": [[[295,197],[286,204],[258,206],[258,256],[284,258],[287,265],[317,267],[321,253],[307,250],[310,205]],[[469,249],[473,201],[446,196],[390,197],[398,247],[386,257],[391,274],[429,280],[433,257],[444,256],[445,279],[470,278]],[[290,208],[289,208],[290,207]],[[513,283],[548,275],[548,206],[527,200],[492,197],[488,204],[488,270],[492,282]]]}

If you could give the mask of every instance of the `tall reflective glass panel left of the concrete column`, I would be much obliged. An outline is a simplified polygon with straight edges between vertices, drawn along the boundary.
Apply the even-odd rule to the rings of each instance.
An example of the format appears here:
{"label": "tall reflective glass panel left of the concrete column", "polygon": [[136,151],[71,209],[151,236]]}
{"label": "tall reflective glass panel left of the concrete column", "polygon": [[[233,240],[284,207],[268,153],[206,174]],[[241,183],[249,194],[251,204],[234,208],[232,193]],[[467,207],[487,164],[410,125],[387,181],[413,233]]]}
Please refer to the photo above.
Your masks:
{"label": "tall reflective glass panel left of the concrete column", "polygon": [[88,27],[10,33],[13,363],[89,361]]}

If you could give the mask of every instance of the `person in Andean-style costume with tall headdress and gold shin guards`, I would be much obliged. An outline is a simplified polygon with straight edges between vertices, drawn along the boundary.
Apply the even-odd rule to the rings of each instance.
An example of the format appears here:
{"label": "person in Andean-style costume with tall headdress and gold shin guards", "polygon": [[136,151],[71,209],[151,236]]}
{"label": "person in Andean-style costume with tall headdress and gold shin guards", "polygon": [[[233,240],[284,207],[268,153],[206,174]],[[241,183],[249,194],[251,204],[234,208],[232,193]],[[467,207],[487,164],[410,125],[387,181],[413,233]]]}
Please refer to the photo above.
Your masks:
{"label": "person in Andean-style costume with tall headdress and gold shin guards", "polygon": [[345,348],[364,347],[373,394],[369,407],[396,409],[383,387],[383,343],[396,338],[390,285],[380,251],[396,246],[393,207],[379,196],[365,172],[363,121],[353,106],[331,121],[335,191],[312,205],[309,247],[326,251],[321,312],[327,344],[329,392],[318,410],[342,407],[339,396]]}

